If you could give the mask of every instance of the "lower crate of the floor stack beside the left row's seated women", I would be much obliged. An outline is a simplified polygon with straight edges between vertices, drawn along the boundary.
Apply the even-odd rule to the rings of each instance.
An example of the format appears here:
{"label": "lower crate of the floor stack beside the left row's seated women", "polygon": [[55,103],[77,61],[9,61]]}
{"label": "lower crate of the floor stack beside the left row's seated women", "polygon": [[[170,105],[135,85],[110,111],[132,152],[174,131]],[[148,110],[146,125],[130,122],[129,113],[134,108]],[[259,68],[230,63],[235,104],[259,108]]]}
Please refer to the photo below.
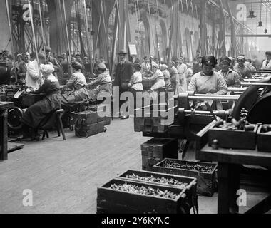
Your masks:
{"label": "lower crate of the floor stack beside the left row's seated women", "polygon": [[88,138],[92,135],[97,135],[99,133],[103,133],[105,131],[104,123],[93,123],[91,125],[83,125],[82,128],[78,128],[78,125],[75,125],[75,133],[77,137],[80,138]]}

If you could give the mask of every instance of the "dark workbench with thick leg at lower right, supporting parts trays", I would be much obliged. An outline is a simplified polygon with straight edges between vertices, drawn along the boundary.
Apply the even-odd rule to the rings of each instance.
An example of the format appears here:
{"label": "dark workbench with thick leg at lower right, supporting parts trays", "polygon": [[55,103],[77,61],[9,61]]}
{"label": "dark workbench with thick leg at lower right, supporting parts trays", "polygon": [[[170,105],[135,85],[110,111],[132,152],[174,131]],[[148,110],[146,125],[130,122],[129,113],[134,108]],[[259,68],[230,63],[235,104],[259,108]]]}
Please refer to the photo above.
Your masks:
{"label": "dark workbench with thick leg at lower right, supporting parts trays", "polygon": [[[271,152],[258,152],[257,150],[213,149],[205,145],[196,153],[196,159],[218,162],[218,214],[239,211],[237,190],[240,189],[242,165],[271,167]],[[246,213],[265,213],[270,210],[270,206],[271,195]]]}

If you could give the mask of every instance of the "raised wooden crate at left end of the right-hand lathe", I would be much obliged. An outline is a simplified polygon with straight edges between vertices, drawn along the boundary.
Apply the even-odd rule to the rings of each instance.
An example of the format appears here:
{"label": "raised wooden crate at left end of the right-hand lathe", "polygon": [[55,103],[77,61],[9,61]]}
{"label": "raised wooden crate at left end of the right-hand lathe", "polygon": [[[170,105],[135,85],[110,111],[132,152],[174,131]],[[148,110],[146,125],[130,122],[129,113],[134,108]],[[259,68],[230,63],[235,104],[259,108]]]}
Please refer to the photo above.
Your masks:
{"label": "raised wooden crate at left end of the right-hand lathe", "polygon": [[[174,113],[177,110],[177,105],[148,105],[138,108],[135,110],[134,130],[143,133],[167,133],[168,127],[174,123]],[[168,123],[163,124],[162,120],[168,120]]]}

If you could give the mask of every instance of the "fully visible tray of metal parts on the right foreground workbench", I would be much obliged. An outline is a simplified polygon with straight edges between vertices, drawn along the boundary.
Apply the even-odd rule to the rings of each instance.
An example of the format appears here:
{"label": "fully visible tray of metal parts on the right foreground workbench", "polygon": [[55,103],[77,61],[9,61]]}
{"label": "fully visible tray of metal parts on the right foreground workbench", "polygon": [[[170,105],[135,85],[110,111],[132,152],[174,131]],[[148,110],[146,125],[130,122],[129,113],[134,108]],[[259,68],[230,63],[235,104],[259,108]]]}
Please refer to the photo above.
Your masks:
{"label": "fully visible tray of metal parts on the right foreground workbench", "polygon": [[231,123],[218,120],[208,131],[209,146],[230,149],[255,150],[257,126],[248,123],[245,118],[239,121],[232,119]]}

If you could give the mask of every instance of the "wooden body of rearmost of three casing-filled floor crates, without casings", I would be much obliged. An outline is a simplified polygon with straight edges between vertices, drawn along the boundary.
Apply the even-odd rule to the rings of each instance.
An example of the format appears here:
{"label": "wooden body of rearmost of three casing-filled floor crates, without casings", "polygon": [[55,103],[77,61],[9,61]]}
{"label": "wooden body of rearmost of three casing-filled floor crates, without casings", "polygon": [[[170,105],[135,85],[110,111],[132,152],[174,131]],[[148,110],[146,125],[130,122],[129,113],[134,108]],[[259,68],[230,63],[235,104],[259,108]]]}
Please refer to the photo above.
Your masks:
{"label": "wooden body of rearmost of three casing-filled floor crates, without casings", "polygon": [[[163,167],[164,162],[172,161],[179,165],[206,165],[212,169],[211,172],[198,172],[188,169],[177,169],[177,168],[168,168]],[[215,170],[218,168],[218,165],[207,163],[207,162],[188,162],[180,161],[166,158],[162,162],[159,162],[157,165],[153,166],[153,172],[162,172],[173,175],[181,175],[185,177],[195,177],[197,178],[198,187],[197,192],[199,195],[213,196],[215,192]]]}

